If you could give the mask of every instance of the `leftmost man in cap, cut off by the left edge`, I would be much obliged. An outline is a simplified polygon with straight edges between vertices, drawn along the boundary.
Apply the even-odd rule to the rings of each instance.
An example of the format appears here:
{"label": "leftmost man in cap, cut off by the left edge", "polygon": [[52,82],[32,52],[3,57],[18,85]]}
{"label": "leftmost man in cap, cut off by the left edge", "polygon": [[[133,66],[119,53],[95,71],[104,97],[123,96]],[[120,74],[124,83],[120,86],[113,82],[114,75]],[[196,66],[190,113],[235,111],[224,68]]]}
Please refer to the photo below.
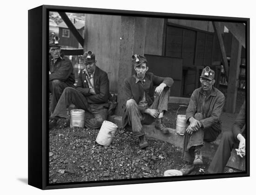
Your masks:
{"label": "leftmost man in cap, cut off by the left edge", "polygon": [[49,111],[52,113],[66,87],[74,86],[72,62],[61,53],[59,37],[49,41],[49,91],[52,94]]}

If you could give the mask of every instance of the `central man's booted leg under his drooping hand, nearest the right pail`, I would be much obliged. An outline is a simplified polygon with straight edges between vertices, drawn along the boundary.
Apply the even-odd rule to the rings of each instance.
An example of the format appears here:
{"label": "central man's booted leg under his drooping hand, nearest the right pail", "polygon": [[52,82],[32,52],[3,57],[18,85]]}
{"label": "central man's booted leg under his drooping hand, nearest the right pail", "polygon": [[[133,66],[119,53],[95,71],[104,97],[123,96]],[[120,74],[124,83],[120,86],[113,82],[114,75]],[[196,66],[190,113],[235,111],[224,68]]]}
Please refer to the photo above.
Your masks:
{"label": "central man's booted leg under his drooping hand, nearest the right pail", "polygon": [[165,87],[160,96],[155,97],[155,101],[151,108],[159,110],[159,116],[155,123],[155,128],[161,130],[163,133],[168,133],[168,128],[163,123],[164,112],[168,110],[168,100],[170,97],[170,88]]}

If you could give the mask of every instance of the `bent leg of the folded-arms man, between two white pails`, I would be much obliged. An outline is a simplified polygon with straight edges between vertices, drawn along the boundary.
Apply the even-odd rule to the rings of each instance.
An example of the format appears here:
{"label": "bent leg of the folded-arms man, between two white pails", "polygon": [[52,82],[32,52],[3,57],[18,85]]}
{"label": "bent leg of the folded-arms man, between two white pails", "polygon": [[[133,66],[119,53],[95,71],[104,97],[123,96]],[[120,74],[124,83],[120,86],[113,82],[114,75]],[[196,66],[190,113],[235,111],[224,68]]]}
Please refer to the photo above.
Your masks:
{"label": "bent leg of the folded-arms man, between two white pails", "polygon": [[108,118],[108,109],[99,108],[99,105],[90,104],[92,117],[85,120],[85,126],[91,129],[99,129],[104,120]]}

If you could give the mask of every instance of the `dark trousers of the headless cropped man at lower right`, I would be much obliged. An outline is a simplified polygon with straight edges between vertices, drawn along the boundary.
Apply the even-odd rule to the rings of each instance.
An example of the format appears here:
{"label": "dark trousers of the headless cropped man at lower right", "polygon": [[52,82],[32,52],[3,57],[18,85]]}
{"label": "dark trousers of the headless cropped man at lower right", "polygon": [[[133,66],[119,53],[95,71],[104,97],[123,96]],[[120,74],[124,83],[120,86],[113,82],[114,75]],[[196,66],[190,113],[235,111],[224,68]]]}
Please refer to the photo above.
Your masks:
{"label": "dark trousers of the headless cropped man at lower right", "polygon": [[220,145],[210,163],[209,173],[223,173],[229,161],[232,149],[239,147],[239,141],[235,139],[232,131],[226,131],[222,135]]}

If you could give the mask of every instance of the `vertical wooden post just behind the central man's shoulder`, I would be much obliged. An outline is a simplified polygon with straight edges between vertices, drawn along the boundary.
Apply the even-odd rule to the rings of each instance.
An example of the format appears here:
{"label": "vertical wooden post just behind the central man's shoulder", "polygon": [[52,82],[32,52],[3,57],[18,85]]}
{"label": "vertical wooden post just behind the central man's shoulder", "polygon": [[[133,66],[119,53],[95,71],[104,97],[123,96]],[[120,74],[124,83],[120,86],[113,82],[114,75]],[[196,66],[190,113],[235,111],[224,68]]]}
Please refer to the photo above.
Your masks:
{"label": "vertical wooden post just behind the central man's shoulder", "polygon": [[135,40],[135,17],[121,16],[121,40],[120,40],[120,58],[118,71],[118,93],[116,115],[122,115],[125,109],[125,97],[123,84],[125,78],[131,76],[132,65],[131,56],[134,54]]}

